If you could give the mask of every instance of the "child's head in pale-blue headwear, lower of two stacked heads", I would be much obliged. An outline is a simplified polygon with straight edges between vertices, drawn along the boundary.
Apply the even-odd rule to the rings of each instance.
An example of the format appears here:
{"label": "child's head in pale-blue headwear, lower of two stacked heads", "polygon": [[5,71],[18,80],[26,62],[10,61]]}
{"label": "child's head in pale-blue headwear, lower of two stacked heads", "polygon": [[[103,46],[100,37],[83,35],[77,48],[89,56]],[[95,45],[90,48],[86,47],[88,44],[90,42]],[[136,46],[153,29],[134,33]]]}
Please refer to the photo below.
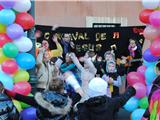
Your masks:
{"label": "child's head in pale-blue headwear, lower of two stacked heads", "polygon": [[114,73],[116,72],[116,63],[114,61],[108,61],[107,62],[107,72]]}

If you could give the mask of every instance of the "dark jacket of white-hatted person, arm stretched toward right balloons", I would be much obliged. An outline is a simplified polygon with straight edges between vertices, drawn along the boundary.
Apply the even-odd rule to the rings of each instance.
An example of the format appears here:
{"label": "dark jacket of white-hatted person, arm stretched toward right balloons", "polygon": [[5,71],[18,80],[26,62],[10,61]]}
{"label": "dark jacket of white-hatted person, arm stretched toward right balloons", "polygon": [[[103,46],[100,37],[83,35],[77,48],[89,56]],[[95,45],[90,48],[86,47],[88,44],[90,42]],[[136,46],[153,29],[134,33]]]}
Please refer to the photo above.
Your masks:
{"label": "dark jacket of white-hatted person, arm stretched toward right balloons", "polygon": [[115,110],[122,107],[136,93],[133,87],[120,97],[98,96],[77,105],[78,120],[113,120]]}

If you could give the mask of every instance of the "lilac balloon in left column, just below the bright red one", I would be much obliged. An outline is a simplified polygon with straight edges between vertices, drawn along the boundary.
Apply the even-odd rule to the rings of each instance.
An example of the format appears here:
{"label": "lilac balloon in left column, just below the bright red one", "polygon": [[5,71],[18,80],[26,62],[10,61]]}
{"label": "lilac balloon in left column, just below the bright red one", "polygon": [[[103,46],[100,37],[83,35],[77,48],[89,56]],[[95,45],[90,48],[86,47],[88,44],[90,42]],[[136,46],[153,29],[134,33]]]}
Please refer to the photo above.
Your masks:
{"label": "lilac balloon in left column, just below the bright red one", "polygon": [[23,34],[23,28],[18,24],[12,24],[7,27],[7,35],[12,39],[18,39]]}

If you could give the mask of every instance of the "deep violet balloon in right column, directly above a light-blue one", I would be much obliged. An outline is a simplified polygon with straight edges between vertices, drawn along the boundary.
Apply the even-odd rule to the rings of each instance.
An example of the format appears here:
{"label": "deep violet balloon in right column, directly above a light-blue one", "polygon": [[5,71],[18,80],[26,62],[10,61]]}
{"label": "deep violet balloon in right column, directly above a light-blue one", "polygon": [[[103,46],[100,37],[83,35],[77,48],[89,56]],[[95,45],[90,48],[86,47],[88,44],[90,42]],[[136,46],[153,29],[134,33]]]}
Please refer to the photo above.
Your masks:
{"label": "deep violet balloon in right column, directly above a light-blue one", "polygon": [[159,57],[156,57],[156,56],[152,55],[150,49],[147,49],[147,50],[144,51],[143,58],[147,62],[155,62],[159,59]]}

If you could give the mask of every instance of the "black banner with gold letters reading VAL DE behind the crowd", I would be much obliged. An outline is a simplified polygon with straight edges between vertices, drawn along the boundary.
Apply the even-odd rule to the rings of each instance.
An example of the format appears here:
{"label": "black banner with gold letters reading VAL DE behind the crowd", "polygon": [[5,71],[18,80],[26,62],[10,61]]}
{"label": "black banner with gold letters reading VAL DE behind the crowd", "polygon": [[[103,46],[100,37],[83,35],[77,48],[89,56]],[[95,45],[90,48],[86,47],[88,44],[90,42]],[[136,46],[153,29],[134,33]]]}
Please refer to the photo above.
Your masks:
{"label": "black banner with gold letters reading VAL DE behind the crowd", "polygon": [[58,40],[62,40],[64,33],[69,33],[71,40],[75,44],[75,52],[78,56],[83,55],[87,50],[94,49],[99,55],[103,56],[105,51],[111,50],[111,47],[117,49],[117,57],[128,56],[129,39],[133,38],[142,46],[144,37],[141,34],[145,26],[133,27],[112,27],[112,28],[71,28],[59,27],[52,31],[51,26],[36,26],[36,31],[41,33],[37,42],[41,43],[43,39],[48,40],[50,49],[55,49],[52,42],[53,34],[57,33]]}

